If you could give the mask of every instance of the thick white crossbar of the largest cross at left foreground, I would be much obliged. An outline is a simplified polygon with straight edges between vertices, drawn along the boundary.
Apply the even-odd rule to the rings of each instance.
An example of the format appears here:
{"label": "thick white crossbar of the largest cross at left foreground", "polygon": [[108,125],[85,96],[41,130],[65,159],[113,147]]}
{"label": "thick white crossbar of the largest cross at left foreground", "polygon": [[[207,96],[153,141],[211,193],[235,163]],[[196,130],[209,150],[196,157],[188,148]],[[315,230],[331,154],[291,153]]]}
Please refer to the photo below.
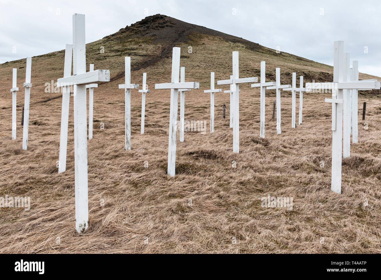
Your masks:
{"label": "thick white crossbar of the largest cross at left foreground", "polygon": [[110,70],[98,69],[83,74],[60,78],[57,80],[57,86],[66,87],[68,85],[93,84],[96,82],[110,82]]}

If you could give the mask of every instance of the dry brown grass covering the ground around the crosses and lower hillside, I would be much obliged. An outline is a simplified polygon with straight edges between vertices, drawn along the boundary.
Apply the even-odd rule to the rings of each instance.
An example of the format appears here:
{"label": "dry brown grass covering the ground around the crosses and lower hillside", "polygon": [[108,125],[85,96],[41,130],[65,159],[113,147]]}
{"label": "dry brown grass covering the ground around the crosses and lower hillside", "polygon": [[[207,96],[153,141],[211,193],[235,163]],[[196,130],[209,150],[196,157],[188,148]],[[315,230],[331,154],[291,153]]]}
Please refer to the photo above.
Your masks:
{"label": "dry brown grass covering the ground around the crosses and lower hillside", "polygon": [[[282,80],[302,72],[319,80],[332,68],[313,62],[293,61],[284,55],[255,53],[219,37],[202,37],[193,53],[182,47],[181,66],[186,80],[199,80],[200,90],[186,92],[186,120],[209,124],[209,72],[226,79],[231,72],[231,51],[240,50],[240,76],[267,72]],[[88,44],[91,50],[92,44]],[[203,44],[204,43],[204,44]],[[158,46],[143,46],[157,50]],[[265,49],[265,48],[264,48]],[[107,52],[107,48],[106,48]],[[184,58],[187,56],[189,58]],[[94,53],[88,52],[88,63]],[[141,56],[132,55],[133,67]],[[171,57],[131,73],[141,83],[147,72],[149,88],[170,79]],[[22,61],[23,62],[23,61]],[[17,140],[11,140],[11,68],[0,65],[0,196],[30,196],[31,209],[0,208],[0,253],[381,253],[380,169],[381,102],[367,101],[369,129],[359,121],[359,143],[343,161],[343,194],[330,190],[330,105],[323,94],[304,94],[303,125],[291,129],[291,96],[282,93],[282,134],[276,134],[272,116],[273,91],[266,94],[266,138],[259,138],[259,90],[241,86],[240,154],[232,153],[229,118],[219,113],[228,94],[216,94],[215,133],[186,132],[178,139],[177,175],[166,175],[169,97],[152,90],[146,97],[146,129],[140,135],[141,94],[132,90],[132,150],[124,150],[124,94],[117,89],[122,78],[94,90],[94,138],[88,141],[90,225],[85,234],[75,231],[73,108],[70,101],[67,171],[57,174],[61,98],[43,92],[45,82],[62,76],[63,53],[32,60],[32,93],[28,150],[21,149],[20,86],[25,69],[19,69]],[[110,69],[111,77],[123,71],[123,53],[115,61],[99,60],[96,69]],[[316,77],[315,77],[316,76]],[[370,77],[360,75],[361,79]],[[305,78],[305,82],[310,81]],[[225,87],[224,89],[227,89]],[[298,101],[297,101],[298,106]],[[228,106],[229,107],[229,106]],[[361,120],[361,116],[359,117]],[[105,129],[99,129],[104,122]],[[144,168],[144,161],[149,168]],[[232,161],[237,167],[232,168]],[[320,161],[325,167],[320,168]],[[263,196],[292,196],[293,210],[262,208]],[[189,200],[192,205],[189,206]],[[365,199],[368,206],[364,206]],[[101,200],[105,201],[101,206]],[[232,244],[232,238],[237,243]],[[324,244],[320,239],[324,237]],[[60,243],[57,244],[57,238]],[[148,244],[144,239],[148,238]]]}

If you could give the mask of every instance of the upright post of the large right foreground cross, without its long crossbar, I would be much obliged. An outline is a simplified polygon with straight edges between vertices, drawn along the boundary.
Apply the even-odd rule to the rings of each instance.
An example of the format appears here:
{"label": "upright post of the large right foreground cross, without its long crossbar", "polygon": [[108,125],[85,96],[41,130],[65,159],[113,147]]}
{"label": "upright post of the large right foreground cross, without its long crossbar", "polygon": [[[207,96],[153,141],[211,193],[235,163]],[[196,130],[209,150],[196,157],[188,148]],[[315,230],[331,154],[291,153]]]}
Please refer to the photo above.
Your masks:
{"label": "upright post of the large right foreground cross, without its long crossbar", "polygon": [[[344,42],[334,42],[333,56],[333,82],[344,81]],[[337,99],[343,99],[343,90],[335,89],[332,95]],[[331,190],[341,194],[341,153],[343,138],[343,104],[336,104],[336,129],[332,131],[332,171]],[[332,115],[335,117],[335,115]]]}

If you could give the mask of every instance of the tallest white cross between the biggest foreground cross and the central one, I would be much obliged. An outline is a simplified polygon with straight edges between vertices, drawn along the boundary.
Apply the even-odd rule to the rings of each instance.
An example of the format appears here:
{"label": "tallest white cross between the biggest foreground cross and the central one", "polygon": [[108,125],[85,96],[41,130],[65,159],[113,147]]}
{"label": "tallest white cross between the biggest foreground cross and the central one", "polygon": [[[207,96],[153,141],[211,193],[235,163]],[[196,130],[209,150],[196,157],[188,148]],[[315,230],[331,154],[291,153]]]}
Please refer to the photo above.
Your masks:
{"label": "tallest white cross between the biggest foreground cross and the central one", "polygon": [[131,84],[131,58],[126,56],[125,63],[125,83],[119,85],[119,89],[124,89],[125,97],[125,135],[124,147],[126,151],[131,150],[131,89],[139,89],[139,84]]}

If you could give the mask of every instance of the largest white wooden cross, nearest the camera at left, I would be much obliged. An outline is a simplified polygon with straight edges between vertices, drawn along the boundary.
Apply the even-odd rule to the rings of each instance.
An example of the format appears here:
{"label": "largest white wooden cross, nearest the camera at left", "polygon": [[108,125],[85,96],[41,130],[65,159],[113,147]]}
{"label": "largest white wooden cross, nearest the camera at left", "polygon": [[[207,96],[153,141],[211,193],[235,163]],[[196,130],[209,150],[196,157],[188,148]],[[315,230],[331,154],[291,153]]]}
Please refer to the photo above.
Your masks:
{"label": "largest white wooden cross, nearest the camera at left", "polygon": [[88,227],[86,84],[110,81],[109,70],[86,72],[84,14],[73,15],[73,62],[74,75],[58,79],[57,84],[74,85],[75,229],[84,232]]}

